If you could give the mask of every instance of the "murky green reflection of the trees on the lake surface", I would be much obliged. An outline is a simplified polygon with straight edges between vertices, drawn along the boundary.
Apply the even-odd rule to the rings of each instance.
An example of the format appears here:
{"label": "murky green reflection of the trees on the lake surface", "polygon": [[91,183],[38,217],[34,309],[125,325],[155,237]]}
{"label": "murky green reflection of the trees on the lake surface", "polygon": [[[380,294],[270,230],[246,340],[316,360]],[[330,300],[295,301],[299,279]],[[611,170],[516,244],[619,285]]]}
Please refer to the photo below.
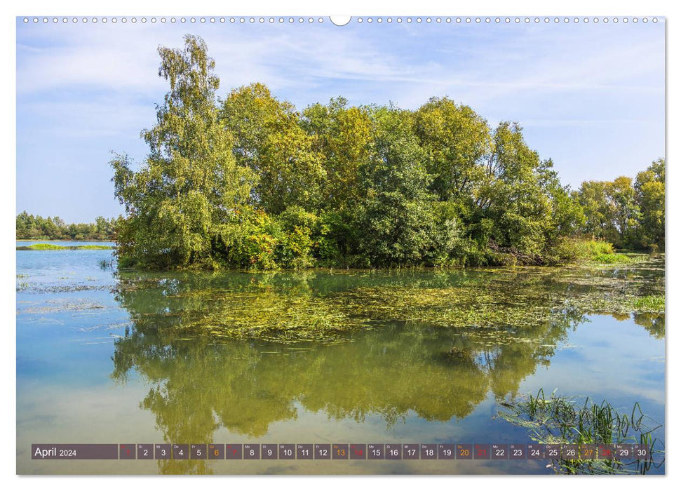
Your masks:
{"label": "murky green reflection of the trees on the lake surface", "polygon": [[[413,287],[417,281],[424,288],[429,282],[471,281],[470,274],[456,275],[370,280],[393,281],[398,287],[402,282]],[[493,275],[483,276],[474,278],[476,284],[491,288]],[[379,415],[388,426],[410,411],[431,421],[463,418],[490,391],[497,398],[515,394],[537,365],[548,365],[567,331],[584,320],[580,312],[566,311],[522,328],[447,329],[393,322],[343,333],[351,342],[333,345],[224,339],[210,330],[184,329],[187,313],[192,321],[201,308],[220,314],[224,304],[210,300],[216,292],[304,297],[323,292],[331,297],[337,290],[334,278],[320,283],[309,274],[253,278],[233,275],[226,281],[220,275],[180,274],[147,284],[134,281],[119,290],[118,300],[128,309],[134,328],[116,341],[112,377],[125,381],[134,369],[150,382],[141,406],[154,413],[166,441],[209,443],[220,426],[245,436],[264,436],[271,423],[296,419],[297,405],[358,422]],[[358,280],[341,276],[343,288],[351,281]],[[544,285],[546,278],[536,282]],[[182,295],[188,290],[197,295]],[[542,290],[539,298],[545,294]],[[663,335],[663,323],[659,331],[658,321],[644,323],[643,316],[635,321]],[[162,473],[209,471],[203,461],[161,461],[159,466]]]}

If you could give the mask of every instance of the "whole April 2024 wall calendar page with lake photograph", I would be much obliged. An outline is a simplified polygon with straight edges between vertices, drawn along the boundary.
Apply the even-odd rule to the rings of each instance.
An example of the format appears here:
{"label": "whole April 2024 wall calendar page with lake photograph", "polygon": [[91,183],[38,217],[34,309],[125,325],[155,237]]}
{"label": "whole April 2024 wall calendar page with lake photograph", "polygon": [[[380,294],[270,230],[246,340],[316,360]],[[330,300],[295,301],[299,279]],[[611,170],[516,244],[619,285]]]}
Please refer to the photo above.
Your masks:
{"label": "whole April 2024 wall calendar page with lake photograph", "polygon": [[15,27],[16,473],[666,472],[666,18]]}

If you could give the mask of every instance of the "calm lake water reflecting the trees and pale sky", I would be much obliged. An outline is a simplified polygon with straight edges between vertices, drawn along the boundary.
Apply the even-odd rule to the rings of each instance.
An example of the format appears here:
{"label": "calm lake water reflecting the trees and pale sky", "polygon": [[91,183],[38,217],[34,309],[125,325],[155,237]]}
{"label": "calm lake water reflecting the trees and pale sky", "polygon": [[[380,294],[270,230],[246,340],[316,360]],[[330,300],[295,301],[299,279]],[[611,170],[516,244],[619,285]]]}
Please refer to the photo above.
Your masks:
{"label": "calm lake water reflecting the trees and pale sky", "polygon": [[[663,318],[570,311],[529,326],[442,321],[447,292],[464,286],[492,297],[518,285],[607,297],[607,288],[635,284],[647,295],[663,291],[663,264],[579,281],[548,269],[118,276],[110,250],[16,254],[18,473],[550,473],[545,461],[30,458],[31,443],[531,443],[525,429],[492,417],[500,401],[540,388],[624,411],[638,401],[664,422]],[[256,332],[321,309],[337,318],[335,299],[353,292],[389,288],[399,299],[414,286],[443,295],[432,315],[419,307],[391,318],[398,301],[372,297],[363,328],[321,341],[292,343],[283,328],[269,341],[219,335],[249,308],[247,332]],[[366,317],[360,307],[351,310]],[[663,443],[663,429],[655,436]]]}

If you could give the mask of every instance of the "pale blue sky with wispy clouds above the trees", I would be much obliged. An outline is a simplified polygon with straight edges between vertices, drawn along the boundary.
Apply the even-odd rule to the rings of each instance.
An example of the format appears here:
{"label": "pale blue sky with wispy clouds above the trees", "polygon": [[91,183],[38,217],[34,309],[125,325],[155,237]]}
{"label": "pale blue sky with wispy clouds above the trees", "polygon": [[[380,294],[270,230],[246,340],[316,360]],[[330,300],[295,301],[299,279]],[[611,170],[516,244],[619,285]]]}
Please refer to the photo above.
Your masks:
{"label": "pale blue sky with wispy clouds above the trees", "polygon": [[67,222],[122,213],[109,151],[141,161],[166,84],[156,47],[203,36],[220,95],[266,83],[299,109],[415,109],[431,96],[470,105],[491,125],[518,121],[562,182],[635,175],[665,151],[664,24],[472,22],[438,25],[17,20],[17,210]]}

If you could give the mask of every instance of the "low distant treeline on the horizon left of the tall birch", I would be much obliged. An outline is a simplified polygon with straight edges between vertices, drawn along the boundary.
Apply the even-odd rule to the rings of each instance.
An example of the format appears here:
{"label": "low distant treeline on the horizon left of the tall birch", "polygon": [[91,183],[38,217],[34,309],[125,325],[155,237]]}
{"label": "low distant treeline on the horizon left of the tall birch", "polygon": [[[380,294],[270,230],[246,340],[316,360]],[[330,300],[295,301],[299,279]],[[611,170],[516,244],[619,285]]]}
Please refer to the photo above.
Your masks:
{"label": "low distant treeline on the horizon left of the tall birch", "polygon": [[60,217],[43,218],[25,211],[17,215],[17,238],[34,241],[113,241],[116,218],[95,218],[95,223],[67,223]]}

